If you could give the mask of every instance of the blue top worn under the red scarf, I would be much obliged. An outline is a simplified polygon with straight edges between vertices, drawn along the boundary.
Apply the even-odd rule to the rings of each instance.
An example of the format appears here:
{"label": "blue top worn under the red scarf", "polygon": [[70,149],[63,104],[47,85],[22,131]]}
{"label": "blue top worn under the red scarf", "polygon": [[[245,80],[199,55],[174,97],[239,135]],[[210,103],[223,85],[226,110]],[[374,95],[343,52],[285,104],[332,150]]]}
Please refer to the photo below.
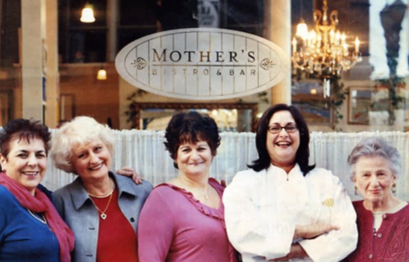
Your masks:
{"label": "blue top worn under the red scarf", "polygon": [[60,261],[56,235],[0,185],[0,261]]}

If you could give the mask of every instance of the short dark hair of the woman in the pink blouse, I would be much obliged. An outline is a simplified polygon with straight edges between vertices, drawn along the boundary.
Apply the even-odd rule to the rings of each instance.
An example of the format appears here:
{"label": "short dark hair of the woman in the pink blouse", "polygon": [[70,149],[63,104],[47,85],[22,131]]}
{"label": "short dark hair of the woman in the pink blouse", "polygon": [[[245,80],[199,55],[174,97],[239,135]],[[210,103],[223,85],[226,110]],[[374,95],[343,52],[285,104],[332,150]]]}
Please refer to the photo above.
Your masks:
{"label": "short dark hair of the woman in the pink blouse", "polygon": [[[199,139],[205,140],[209,144],[212,156],[216,156],[217,147],[220,145],[220,135],[214,119],[196,111],[174,115],[166,127],[165,139],[166,150],[173,160],[176,159],[179,146],[186,142],[196,143]],[[176,163],[173,165],[178,168]]]}

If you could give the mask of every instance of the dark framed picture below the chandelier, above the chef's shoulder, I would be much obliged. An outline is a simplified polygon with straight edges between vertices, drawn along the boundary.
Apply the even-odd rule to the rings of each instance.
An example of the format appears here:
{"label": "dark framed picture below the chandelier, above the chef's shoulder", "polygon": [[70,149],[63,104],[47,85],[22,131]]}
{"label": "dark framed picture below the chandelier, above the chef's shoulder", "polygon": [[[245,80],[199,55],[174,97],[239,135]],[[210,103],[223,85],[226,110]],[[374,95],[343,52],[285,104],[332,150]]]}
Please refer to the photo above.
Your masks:
{"label": "dark framed picture below the chandelier, above the chef's shoulder", "polygon": [[324,98],[323,83],[319,79],[301,79],[291,89],[291,104],[296,106],[308,124],[331,125],[329,99]]}

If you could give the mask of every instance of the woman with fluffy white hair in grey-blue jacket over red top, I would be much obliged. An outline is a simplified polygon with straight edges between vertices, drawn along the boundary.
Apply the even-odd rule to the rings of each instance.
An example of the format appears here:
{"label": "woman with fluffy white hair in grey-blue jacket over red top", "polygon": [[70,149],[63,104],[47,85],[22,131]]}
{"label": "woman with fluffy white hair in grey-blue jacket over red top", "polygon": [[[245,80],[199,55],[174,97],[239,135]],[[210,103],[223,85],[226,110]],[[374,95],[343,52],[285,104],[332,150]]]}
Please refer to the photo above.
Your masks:
{"label": "woman with fluffy white hair in grey-blue jacket over red top", "polygon": [[53,193],[75,234],[72,261],[138,261],[138,216],[152,186],[110,171],[114,141],[109,127],[85,116],[53,134],[55,166],[78,174]]}

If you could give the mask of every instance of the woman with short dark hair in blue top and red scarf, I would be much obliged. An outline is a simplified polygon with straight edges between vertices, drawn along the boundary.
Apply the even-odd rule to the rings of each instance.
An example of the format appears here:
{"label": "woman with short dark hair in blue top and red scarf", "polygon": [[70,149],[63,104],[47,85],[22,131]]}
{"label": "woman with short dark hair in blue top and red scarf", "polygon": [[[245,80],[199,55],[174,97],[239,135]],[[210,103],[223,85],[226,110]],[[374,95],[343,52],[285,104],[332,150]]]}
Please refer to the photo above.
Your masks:
{"label": "woman with short dark hair in blue top and red scarf", "polygon": [[50,138],[47,126],[28,119],[0,132],[0,261],[71,261],[74,233],[37,188]]}

